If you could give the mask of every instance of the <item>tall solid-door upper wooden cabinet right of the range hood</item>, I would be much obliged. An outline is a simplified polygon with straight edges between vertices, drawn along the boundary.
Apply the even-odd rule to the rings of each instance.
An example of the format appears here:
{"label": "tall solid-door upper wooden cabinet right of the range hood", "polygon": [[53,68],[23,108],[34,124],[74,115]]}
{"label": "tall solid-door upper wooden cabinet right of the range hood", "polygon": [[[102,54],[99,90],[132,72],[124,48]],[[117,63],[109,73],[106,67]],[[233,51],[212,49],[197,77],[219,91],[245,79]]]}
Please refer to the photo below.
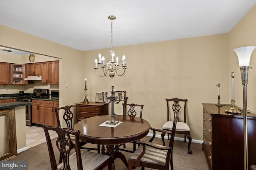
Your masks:
{"label": "tall solid-door upper wooden cabinet right of the range hood", "polygon": [[59,61],[42,63],[42,84],[59,84]]}

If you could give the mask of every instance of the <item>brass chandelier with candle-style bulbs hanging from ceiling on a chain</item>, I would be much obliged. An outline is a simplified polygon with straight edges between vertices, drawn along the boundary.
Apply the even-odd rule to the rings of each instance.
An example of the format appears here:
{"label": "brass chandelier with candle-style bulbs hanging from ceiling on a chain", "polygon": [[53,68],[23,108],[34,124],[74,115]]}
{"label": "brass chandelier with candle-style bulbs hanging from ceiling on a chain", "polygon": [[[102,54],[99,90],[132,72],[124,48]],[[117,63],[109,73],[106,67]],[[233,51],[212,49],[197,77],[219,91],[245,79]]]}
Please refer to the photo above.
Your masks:
{"label": "brass chandelier with candle-style bulbs hanging from ceiling on a chain", "polygon": [[[97,59],[95,59],[95,72],[98,76],[103,77],[103,76],[110,76],[111,79],[117,74],[118,76],[123,76],[126,71],[126,62],[125,62],[125,56],[123,55],[122,57],[122,66],[120,66],[120,63],[118,61],[118,57],[116,56],[116,61],[114,61],[114,50],[113,50],[113,20],[116,19],[116,16],[108,16],[108,19],[111,20],[111,50],[109,51],[111,54],[111,58],[109,62],[105,62],[105,57],[99,54],[99,62]],[[103,71],[103,75],[99,75],[97,73],[97,64],[99,64],[99,68]],[[118,67],[119,66],[119,67]],[[122,72],[121,72],[122,71]],[[118,72],[121,72],[121,74],[118,74]]]}

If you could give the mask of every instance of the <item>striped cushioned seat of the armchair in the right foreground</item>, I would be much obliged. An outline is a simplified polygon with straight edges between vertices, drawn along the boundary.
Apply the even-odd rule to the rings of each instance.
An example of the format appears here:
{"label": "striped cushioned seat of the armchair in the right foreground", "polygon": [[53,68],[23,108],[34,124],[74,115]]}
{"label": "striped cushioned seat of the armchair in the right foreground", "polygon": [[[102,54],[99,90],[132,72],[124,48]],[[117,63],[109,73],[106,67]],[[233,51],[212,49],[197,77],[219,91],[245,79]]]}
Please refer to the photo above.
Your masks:
{"label": "striped cushioned seat of the armchair in the right foreground", "polygon": [[[158,144],[154,144],[154,145],[158,145]],[[163,146],[163,145],[159,145],[159,146]],[[140,145],[138,149],[134,152],[134,154],[132,154],[130,159],[136,160],[142,151],[143,151],[143,147],[142,145]],[[155,148],[146,146],[146,152],[140,161],[165,165],[167,152],[168,150],[160,150],[160,149],[155,149]]]}

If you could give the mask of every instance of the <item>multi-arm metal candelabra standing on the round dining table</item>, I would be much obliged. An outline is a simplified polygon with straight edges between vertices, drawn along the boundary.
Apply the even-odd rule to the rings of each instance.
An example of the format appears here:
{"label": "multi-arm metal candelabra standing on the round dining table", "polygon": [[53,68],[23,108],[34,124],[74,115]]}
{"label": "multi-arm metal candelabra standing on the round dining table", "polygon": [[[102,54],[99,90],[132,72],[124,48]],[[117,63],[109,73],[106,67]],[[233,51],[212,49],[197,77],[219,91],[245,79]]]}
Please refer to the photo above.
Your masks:
{"label": "multi-arm metal candelabra standing on the round dining table", "polygon": [[118,96],[115,96],[114,92],[114,86],[111,86],[112,91],[111,91],[111,96],[108,97],[108,92],[102,92],[102,101],[104,103],[109,104],[111,102],[111,120],[107,121],[106,124],[109,125],[116,125],[119,123],[119,121],[115,121],[114,119],[114,104],[119,104],[119,102],[122,100],[122,92],[118,92]]}

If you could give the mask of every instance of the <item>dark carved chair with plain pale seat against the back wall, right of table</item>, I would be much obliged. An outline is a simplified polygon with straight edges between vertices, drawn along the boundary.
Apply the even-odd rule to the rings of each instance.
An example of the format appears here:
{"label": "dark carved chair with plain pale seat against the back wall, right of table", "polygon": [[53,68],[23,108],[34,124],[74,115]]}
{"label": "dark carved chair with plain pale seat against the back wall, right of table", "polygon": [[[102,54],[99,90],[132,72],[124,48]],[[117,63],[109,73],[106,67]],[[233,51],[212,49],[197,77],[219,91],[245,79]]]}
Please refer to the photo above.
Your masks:
{"label": "dark carved chair with plain pale seat against the back wall, right of table", "polygon": [[[163,125],[163,130],[172,131],[172,122],[171,121],[171,109],[173,110],[174,117],[177,116],[177,127],[176,127],[176,134],[184,134],[184,142],[186,142],[186,137],[188,139],[188,154],[192,154],[192,150],[190,149],[192,137],[190,135],[190,127],[186,123],[186,103],[187,99],[179,99],[179,98],[172,98],[166,99],[167,102],[167,122]],[[173,105],[171,106],[171,102]],[[183,102],[181,106],[180,103]],[[181,112],[180,112],[181,111]],[[182,114],[183,113],[183,114]],[[183,118],[183,121],[179,120],[179,116]],[[169,139],[169,135],[168,135]],[[162,139],[163,140],[163,139]]]}

